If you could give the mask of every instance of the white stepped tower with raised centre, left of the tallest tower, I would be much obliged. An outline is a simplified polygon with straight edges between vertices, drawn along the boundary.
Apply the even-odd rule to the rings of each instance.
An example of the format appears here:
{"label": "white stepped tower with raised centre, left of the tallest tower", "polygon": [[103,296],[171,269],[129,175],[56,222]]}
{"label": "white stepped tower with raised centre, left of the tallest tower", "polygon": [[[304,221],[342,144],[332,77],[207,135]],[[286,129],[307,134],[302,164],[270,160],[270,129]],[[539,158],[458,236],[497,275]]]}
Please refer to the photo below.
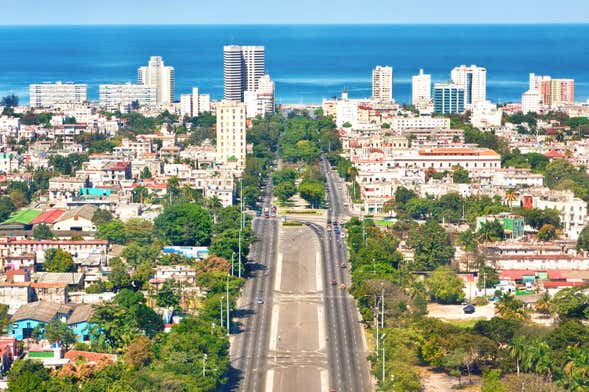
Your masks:
{"label": "white stepped tower with raised centre, left of the tallest tower", "polygon": [[139,67],[137,81],[156,89],[158,105],[174,102],[174,67],[166,66],[161,56],[151,56],[147,66]]}

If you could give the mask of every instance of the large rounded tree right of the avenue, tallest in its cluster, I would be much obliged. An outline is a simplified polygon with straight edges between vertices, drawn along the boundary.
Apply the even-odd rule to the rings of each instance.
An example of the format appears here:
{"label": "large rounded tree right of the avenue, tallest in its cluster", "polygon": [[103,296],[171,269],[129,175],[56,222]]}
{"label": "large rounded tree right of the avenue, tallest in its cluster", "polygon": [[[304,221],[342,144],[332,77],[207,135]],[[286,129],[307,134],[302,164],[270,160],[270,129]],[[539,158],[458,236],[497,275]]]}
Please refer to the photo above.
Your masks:
{"label": "large rounded tree right of the avenue, tallest in its cluster", "polygon": [[449,264],[454,256],[450,234],[434,220],[412,229],[408,244],[415,252],[413,269],[433,270],[440,265]]}

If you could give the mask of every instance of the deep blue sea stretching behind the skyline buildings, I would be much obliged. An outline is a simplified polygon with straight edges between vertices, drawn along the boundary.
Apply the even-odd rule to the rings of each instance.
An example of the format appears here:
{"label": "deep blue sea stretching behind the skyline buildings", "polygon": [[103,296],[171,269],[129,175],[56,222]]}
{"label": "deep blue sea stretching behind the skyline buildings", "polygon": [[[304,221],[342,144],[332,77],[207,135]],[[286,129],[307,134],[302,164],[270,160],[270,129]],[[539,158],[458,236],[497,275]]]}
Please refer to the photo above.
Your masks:
{"label": "deep blue sea stretching behind the skyline buildings", "polygon": [[136,81],[150,56],[175,67],[176,98],[199,87],[223,96],[223,46],[264,45],[278,103],[320,103],[347,89],[371,95],[376,65],[394,69],[394,96],[411,100],[411,76],[423,68],[445,82],[461,64],[487,68],[487,96],[518,102],[530,72],[574,78],[589,99],[589,24],[554,25],[114,25],[0,26],[0,96],[28,102],[28,85]]}

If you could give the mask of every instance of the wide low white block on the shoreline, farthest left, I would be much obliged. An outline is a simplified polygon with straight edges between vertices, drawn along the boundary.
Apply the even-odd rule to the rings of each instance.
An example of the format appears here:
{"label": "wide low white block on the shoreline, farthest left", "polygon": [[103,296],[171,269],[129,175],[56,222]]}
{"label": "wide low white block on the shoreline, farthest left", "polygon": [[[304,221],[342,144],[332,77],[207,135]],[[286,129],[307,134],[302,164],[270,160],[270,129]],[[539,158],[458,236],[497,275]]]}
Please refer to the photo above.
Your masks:
{"label": "wide low white block on the shoreline, farthest left", "polygon": [[37,83],[29,85],[29,105],[34,108],[88,100],[88,85],[79,83]]}

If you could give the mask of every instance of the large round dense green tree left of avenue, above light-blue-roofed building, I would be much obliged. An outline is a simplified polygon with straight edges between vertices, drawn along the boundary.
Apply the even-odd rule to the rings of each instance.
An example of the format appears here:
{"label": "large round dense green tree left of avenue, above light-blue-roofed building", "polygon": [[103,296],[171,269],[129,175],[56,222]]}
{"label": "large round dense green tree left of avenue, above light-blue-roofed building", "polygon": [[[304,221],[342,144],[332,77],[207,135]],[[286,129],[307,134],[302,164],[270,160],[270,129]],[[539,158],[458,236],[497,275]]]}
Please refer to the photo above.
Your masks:
{"label": "large round dense green tree left of avenue, above light-blue-roofed building", "polygon": [[168,206],[155,219],[154,231],[162,241],[181,246],[208,245],[211,239],[210,213],[194,203]]}

